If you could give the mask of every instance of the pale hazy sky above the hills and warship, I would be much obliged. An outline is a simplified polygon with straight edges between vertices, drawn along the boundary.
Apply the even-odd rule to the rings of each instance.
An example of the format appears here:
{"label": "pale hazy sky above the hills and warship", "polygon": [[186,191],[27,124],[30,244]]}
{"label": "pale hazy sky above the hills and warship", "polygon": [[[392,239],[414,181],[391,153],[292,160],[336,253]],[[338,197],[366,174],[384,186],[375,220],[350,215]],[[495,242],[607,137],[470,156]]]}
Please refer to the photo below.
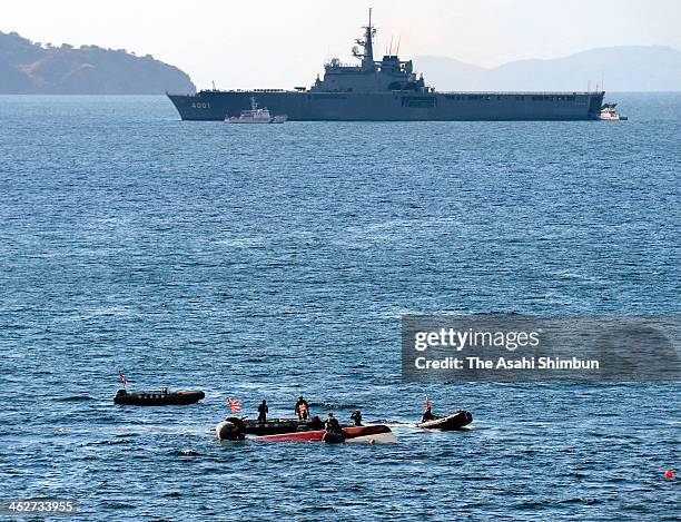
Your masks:
{"label": "pale hazy sky above the hills and warship", "polygon": [[3,2],[0,30],[150,53],[199,88],[211,80],[219,88],[290,88],[309,86],[328,57],[352,61],[369,6],[376,55],[399,37],[403,59],[495,66],[603,46],[681,50],[679,0],[21,0]]}

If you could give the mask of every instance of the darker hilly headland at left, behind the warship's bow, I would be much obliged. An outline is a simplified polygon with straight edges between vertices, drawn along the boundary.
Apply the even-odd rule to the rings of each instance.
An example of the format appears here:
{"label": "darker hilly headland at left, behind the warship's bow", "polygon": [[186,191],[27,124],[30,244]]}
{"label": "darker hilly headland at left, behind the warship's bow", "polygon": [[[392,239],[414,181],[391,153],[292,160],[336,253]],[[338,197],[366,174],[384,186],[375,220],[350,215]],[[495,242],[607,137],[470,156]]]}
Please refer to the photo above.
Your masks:
{"label": "darker hilly headland at left, behind the warship's bow", "polygon": [[196,92],[177,67],[125,49],[33,43],[0,32],[0,93],[160,95]]}

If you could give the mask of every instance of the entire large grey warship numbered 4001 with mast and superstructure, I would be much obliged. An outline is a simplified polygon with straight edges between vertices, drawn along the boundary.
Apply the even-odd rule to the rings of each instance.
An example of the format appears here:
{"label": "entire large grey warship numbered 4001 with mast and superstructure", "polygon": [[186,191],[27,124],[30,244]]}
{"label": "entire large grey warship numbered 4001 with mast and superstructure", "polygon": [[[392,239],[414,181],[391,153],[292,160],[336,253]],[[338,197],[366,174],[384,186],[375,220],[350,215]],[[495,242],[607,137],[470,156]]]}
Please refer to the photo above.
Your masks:
{"label": "entire large grey warship numbered 4001 with mast and superstructure", "polygon": [[364,36],[355,40],[358,65],[333,58],[324,66],[324,79],[309,88],[253,90],[201,90],[168,98],[184,120],[219,120],[248,110],[251,100],[273,115],[289,120],[315,121],[509,121],[595,120],[604,91],[582,92],[440,92],[417,76],[412,60],[402,61],[388,51],[374,60],[369,9]]}

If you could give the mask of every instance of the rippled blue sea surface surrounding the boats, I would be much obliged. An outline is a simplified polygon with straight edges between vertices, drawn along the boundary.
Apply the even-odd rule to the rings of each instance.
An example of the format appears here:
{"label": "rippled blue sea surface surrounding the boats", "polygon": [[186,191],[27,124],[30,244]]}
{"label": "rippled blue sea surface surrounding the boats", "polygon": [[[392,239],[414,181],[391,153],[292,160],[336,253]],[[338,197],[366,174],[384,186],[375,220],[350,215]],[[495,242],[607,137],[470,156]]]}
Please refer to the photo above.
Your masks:
{"label": "rippled blue sea surface surrounding the boats", "polygon": [[[681,313],[681,93],[626,122],[179,121],[0,97],[0,483],[78,520],[678,520],[679,384],[409,384],[403,314]],[[203,388],[186,407],[130,388]],[[409,427],[466,408],[471,429]],[[219,443],[255,415],[392,445]],[[681,470],[678,470],[678,472]]]}

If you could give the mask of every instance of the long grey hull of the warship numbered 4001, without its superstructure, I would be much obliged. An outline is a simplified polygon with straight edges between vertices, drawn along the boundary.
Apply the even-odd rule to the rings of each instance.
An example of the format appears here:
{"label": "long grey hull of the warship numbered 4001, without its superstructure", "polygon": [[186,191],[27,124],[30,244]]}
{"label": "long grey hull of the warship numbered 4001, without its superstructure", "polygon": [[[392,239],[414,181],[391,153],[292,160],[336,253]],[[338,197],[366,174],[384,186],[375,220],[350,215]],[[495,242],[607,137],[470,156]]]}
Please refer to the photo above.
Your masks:
{"label": "long grey hull of the warship numbered 4001, without its superstructure", "polygon": [[207,90],[168,95],[184,120],[224,120],[250,107],[298,121],[595,120],[599,92],[310,92]]}

